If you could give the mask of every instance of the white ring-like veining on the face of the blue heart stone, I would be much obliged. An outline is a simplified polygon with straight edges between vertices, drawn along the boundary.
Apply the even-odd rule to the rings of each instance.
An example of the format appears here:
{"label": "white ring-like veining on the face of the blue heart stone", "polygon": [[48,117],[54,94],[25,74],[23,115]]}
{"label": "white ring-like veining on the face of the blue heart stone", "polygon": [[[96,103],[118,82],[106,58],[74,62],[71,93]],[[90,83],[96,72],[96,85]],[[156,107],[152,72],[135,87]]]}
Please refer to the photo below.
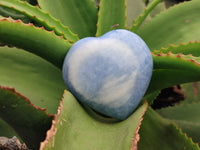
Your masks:
{"label": "white ring-like veining on the face of the blue heart stone", "polygon": [[[87,41],[90,43],[84,43],[82,47],[78,47],[79,50],[74,51],[74,53],[69,58],[69,80],[72,85],[76,87],[77,92],[81,93],[86,99],[91,100],[91,95],[82,91],[84,90],[81,86],[81,79],[79,79],[79,69],[84,64],[84,61],[90,58],[93,54],[99,53],[110,53],[115,54],[108,57],[108,59],[119,59],[119,61],[129,61],[134,66],[137,66],[138,60],[137,57],[133,55],[132,50],[123,42],[117,39],[94,39],[92,41]],[[112,46],[110,46],[112,45]],[[108,49],[112,47],[112,49]],[[80,50],[82,49],[82,50]],[[106,50],[107,51],[104,51]],[[114,52],[117,49],[117,52]],[[103,50],[103,51],[102,51]],[[108,55],[107,54],[107,55]],[[119,67],[124,67],[123,63],[118,63]],[[103,71],[103,70],[102,70]],[[100,88],[100,90],[95,94],[95,101],[101,102],[103,104],[111,103],[114,101],[118,101],[114,103],[112,107],[119,107],[120,105],[126,103],[130,96],[131,91],[137,74],[137,68],[129,75],[122,75],[121,77],[116,77],[114,74],[107,76],[103,79],[104,85]],[[122,100],[123,99],[123,100]]]}

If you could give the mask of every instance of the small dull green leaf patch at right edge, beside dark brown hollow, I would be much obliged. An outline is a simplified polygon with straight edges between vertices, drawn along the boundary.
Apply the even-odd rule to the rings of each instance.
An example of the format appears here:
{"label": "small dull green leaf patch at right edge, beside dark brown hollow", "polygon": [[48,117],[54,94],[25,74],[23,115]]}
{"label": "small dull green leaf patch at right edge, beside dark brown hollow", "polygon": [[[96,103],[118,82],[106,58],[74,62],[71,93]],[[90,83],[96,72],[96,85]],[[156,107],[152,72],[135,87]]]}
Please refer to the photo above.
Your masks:
{"label": "small dull green leaf patch at right edge, beside dark brown hollow", "polygon": [[200,102],[199,86],[200,82],[192,82],[181,85],[181,90],[186,94],[186,99],[181,102],[182,105]]}

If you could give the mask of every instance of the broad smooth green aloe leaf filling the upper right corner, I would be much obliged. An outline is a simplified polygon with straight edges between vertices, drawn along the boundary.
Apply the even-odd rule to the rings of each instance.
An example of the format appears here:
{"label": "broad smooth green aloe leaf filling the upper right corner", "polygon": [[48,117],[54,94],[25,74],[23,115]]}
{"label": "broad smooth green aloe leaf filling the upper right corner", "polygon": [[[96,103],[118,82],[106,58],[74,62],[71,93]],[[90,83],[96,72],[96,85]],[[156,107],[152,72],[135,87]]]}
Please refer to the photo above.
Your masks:
{"label": "broad smooth green aloe leaf filling the upper right corner", "polygon": [[178,4],[146,23],[138,34],[151,50],[200,40],[200,1]]}

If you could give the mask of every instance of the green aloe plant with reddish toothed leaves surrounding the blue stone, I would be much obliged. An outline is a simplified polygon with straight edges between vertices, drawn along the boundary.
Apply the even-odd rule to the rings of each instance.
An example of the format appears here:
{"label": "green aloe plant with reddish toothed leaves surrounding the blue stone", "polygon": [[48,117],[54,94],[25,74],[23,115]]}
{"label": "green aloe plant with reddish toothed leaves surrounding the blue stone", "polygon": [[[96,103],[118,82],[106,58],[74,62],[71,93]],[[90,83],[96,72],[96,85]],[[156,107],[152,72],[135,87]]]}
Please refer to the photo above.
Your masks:
{"label": "green aloe plant with reddish toothed leaves surrounding the blue stone", "polygon": [[[0,0],[0,136],[40,150],[199,149],[191,86],[183,85],[184,102],[151,108],[162,89],[200,80],[200,1],[166,7],[161,0],[146,8],[142,0]],[[62,78],[74,43],[114,29],[142,37],[154,64],[142,102],[124,121],[79,103]]]}

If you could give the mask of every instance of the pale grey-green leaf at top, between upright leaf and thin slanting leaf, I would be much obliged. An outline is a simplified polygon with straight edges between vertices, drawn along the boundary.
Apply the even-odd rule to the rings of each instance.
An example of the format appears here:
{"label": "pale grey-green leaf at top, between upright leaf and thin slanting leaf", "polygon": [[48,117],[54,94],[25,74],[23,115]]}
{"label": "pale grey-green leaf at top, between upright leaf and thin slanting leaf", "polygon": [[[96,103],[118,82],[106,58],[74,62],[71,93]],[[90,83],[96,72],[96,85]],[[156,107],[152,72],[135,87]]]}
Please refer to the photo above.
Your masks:
{"label": "pale grey-green leaf at top, between upright leaf and thin slanting leaf", "polygon": [[127,5],[127,26],[130,27],[133,24],[133,20],[136,19],[145,8],[143,0],[126,0]]}

